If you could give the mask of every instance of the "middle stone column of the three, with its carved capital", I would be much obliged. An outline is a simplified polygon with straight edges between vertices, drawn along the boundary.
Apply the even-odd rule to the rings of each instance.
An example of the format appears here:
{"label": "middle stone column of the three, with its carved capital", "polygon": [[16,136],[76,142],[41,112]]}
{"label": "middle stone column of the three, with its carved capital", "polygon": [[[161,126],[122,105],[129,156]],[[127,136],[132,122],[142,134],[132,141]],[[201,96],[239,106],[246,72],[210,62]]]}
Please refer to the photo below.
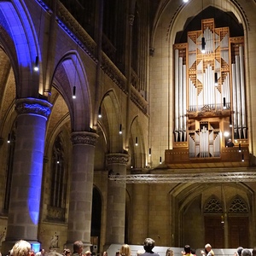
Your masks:
{"label": "middle stone column of the three, with its carved capital", "polygon": [[93,190],[93,171],[96,133],[72,133],[73,167],[71,171],[67,247],[73,250],[74,241],[83,241],[90,247],[90,222]]}

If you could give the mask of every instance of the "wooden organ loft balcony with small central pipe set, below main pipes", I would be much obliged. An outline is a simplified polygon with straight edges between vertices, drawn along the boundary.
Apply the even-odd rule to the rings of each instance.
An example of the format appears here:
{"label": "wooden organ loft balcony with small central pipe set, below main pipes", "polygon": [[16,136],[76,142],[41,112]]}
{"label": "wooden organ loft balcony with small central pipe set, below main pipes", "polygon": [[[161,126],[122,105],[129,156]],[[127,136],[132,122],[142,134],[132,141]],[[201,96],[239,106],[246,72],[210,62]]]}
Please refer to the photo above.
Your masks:
{"label": "wooden organ loft balcony with small central pipe set, below main pipes", "polygon": [[[170,169],[250,166],[247,129],[240,123],[233,124],[231,116],[230,105],[187,111],[183,125],[186,130],[174,131],[172,149],[166,149],[166,166]],[[227,146],[229,139],[233,147]]]}

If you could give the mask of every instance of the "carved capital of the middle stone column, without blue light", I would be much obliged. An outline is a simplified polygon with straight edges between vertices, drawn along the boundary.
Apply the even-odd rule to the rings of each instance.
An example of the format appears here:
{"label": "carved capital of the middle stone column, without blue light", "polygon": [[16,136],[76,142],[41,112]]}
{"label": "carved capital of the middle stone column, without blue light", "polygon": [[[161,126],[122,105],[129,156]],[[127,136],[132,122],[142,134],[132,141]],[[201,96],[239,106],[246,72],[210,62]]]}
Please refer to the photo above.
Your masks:
{"label": "carved capital of the middle stone column, without blue light", "polygon": [[95,132],[90,131],[73,131],[71,141],[75,144],[87,144],[95,146],[99,136]]}

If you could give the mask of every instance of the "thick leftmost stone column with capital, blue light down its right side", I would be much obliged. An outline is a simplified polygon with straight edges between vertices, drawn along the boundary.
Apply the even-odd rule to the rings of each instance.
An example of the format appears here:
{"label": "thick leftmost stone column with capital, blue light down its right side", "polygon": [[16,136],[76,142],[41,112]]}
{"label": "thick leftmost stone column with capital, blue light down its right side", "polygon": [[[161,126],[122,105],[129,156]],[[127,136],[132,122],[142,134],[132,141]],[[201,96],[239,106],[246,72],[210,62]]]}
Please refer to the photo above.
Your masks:
{"label": "thick leftmost stone column with capital, blue light down its right side", "polygon": [[35,98],[16,101],[14,166],[3,253],[21,238],[38,245],[45,129],[51,107],[49,102]]}

